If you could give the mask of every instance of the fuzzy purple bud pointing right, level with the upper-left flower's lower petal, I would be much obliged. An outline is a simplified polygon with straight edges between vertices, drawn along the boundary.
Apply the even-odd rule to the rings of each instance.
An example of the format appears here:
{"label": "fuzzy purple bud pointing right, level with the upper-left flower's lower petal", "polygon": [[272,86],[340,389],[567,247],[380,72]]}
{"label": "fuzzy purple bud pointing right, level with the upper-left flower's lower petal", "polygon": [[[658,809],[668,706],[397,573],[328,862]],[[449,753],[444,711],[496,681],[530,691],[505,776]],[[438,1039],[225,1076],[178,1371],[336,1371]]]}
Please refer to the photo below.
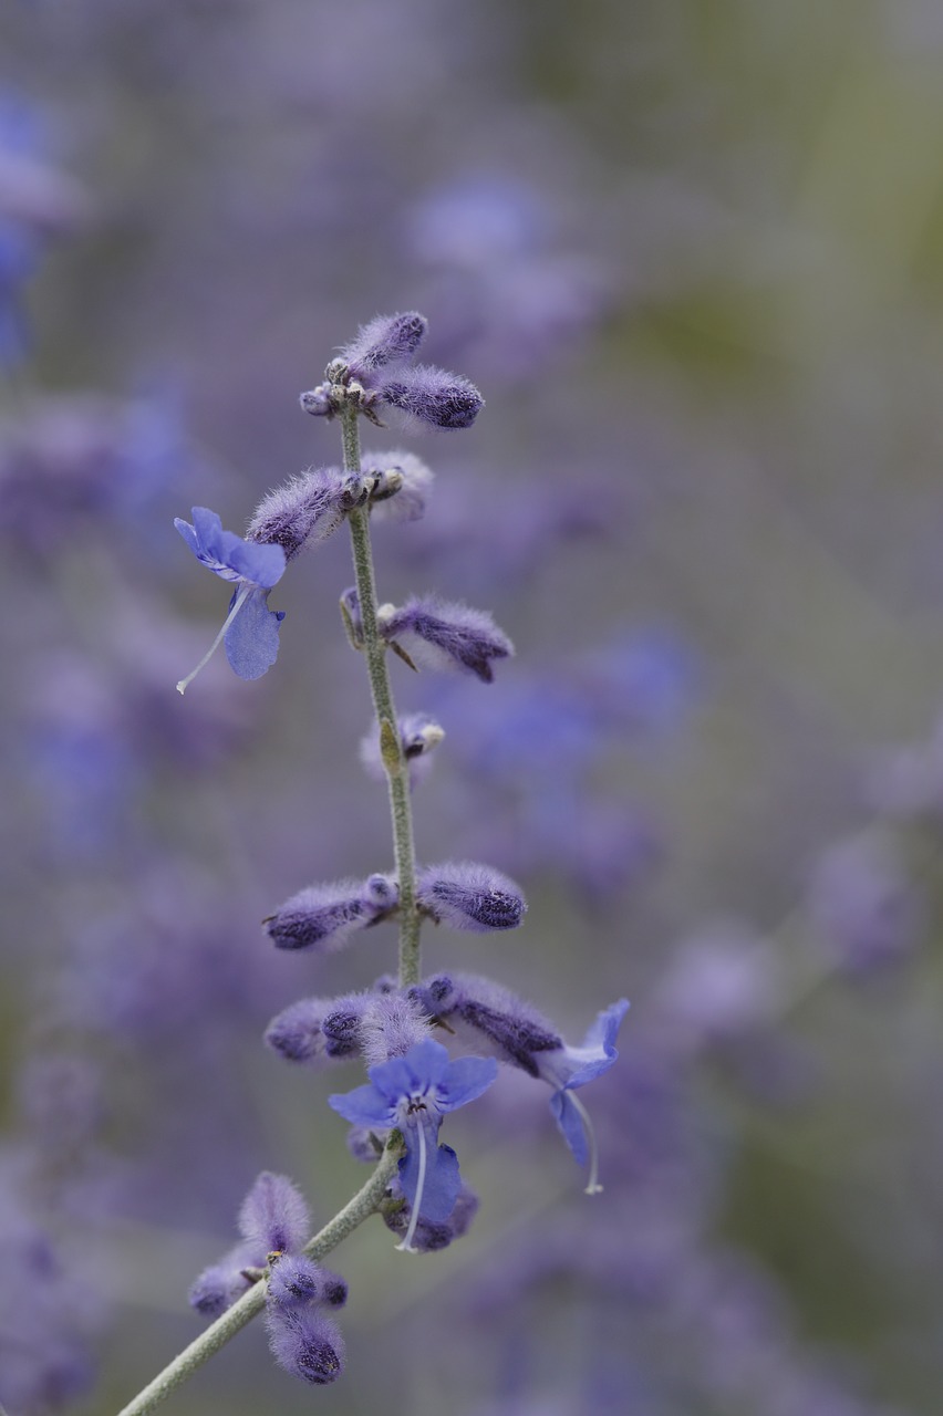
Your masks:
{"label": "fuzzy purple bud pointing right, level with the upper-left flower's lower petal", "polygon": [[429,668],[459,668],[483,683],[494,678],[491,660],[514,653],[486,610],[450,605],[432,595],[412,596],[395,609],[381,610],[384,639],[395,641],[411,658]]}

